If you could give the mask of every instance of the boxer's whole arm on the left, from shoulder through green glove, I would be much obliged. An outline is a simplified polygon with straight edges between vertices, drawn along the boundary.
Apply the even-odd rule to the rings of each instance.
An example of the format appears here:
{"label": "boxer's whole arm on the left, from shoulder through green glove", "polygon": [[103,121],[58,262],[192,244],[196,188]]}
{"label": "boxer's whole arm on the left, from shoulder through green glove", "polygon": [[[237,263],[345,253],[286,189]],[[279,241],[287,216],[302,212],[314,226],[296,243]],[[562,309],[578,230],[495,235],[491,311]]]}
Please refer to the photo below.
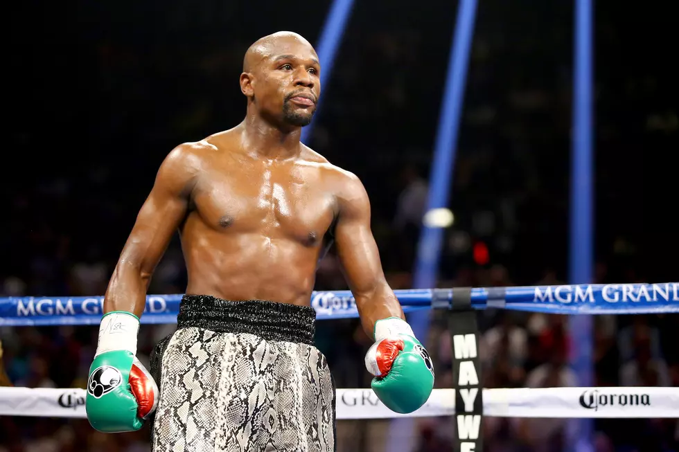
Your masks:
{"label": "boxer's whole arm on the left, from shoulder through green glove", "polygon": [[109,282],[85,399],[98,431],[139,430],[158,404],[157,383],[136,358],[139,317],[151,274],[188,210],[197,161],[193,145],[167,156]]}

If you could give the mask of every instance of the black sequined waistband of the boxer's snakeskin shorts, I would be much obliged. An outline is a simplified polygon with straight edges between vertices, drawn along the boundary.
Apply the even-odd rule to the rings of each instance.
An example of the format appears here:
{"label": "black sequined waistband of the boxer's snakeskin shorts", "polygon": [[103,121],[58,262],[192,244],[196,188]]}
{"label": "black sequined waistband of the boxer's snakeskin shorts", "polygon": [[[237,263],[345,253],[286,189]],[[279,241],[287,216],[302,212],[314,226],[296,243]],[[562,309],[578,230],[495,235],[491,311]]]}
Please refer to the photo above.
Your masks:
{"label": "black sequined waistband of the boxer's snakeskin shorts", "polygon": [[178,328],[255,334],[267,341],[314,345],[316,311],[310,306],[263,300],[229,301],[210,295],[184,295]]}

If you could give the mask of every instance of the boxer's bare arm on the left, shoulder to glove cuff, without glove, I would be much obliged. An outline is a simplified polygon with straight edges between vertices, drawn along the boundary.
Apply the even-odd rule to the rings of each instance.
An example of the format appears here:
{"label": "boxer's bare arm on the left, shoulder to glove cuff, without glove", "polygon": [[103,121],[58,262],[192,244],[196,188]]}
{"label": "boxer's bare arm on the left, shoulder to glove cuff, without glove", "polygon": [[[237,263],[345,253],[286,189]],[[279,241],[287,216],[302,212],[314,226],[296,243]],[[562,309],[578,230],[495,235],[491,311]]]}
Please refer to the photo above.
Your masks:
{"label": "boxer's bare arm on the left, shoulder to glove cuff, without glove", "polygon": [[113,271],[104,297],[104,312],[141,316],[156,265],[188,209],[197,172],[192,145],[176,147],[161,164]]}

